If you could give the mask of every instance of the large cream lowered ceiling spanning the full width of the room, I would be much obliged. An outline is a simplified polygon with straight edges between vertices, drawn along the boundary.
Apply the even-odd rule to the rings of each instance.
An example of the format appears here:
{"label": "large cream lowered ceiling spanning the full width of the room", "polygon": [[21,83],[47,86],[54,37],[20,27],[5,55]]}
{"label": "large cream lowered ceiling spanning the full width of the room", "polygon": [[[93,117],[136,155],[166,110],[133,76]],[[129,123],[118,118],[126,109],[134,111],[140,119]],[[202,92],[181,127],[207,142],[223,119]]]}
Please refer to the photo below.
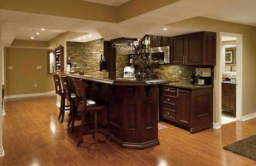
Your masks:
{"label": "large cream lowered ceiling spanning the full width of the room", "polygon": [[[87,1],[119,5],[128,0]],[[84,33],[84,36],[70,40],[76,42],[88,42],[101,37],[105,40],[118,37],[139,38],[145,34],[174,36],[195,30],[165,25],[197,16],[256,26],[255,6],[256,0],[180,0],[119,23],[71,18],[72,14],[70,17],[60,17],[0,9],[0,24],[4,22],[2,40],[5,47],[10,46],[13,39],[31,40],[30,37],[33,36],[34,40],[47,41],[66,31]],[[46,31],[36,35],[41,28]],[[168,30],[163,31],[163,28]]]}

